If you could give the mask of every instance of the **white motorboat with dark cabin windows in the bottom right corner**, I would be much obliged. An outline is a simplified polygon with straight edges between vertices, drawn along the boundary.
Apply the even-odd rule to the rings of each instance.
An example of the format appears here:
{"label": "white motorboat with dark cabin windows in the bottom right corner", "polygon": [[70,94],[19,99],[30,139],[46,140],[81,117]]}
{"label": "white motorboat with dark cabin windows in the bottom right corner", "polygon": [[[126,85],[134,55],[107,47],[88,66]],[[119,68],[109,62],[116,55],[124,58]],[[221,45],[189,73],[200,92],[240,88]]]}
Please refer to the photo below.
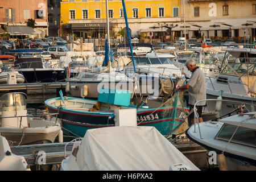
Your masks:
{"label": "white motorboat with dark cabin windows in the bottom right corner", "polygon": [[[242,113],[192,125],[186,135],[193,142],[215,151],[213,156],[219,167],[229,170],[256,170],[256,112]],[[212,154],[214,154],[212,152]],[[217,160],[219,159],[219,160]],[[224,162],[223,162],[224,161]],[[224,166],[220,166],[220,164]]]}

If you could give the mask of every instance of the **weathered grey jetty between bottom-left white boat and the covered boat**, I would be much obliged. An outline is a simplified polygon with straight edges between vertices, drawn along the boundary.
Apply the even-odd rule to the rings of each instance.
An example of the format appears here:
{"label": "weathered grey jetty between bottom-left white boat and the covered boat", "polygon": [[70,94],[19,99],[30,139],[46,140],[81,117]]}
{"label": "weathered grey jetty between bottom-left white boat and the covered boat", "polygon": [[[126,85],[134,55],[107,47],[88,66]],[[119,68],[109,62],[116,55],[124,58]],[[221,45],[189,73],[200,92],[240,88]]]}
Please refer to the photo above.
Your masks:
{"label": "weathered grey jetty between bottom-left white boat and the covered boat", "polygon": [[[39,151],[46,152],[46,164],[60,164],[64,159],[64,147],[65,144],[69,142],[63,143],[47,143],[47,144],[31,144],[24,146],[13,146],[11,148],[11,152],[15,155],[23,156],[27,164],[30,166],[38,164],[39,160]],[[66,148],[66,157],[69,156],[72,152],[73,143],[69,143]]]}

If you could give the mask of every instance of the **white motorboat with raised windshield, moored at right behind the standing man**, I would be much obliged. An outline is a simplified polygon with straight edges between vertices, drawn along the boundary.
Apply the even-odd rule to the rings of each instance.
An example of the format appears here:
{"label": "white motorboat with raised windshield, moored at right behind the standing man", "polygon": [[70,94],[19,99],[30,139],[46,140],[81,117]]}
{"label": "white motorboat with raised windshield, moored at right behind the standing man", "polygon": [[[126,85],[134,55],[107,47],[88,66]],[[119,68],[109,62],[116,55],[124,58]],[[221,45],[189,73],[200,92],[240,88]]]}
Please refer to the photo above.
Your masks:
{"label": "white motorboat with raised windshield, moored at right behind the standing man", "polygon": [[[219,96],[224,100],[237,100],[249,104],[256,104],[256,49],[224,49],[226,51],[219,75],[209,77],[207,81],[207,98]],[[236,62],[225,61],[232,55]],[[215,110],[216,101],[207,101],[209,111]],[[222,114],[236,109],[236,104],[223,102]],[[256,107],[251,108],[254,111]]]}

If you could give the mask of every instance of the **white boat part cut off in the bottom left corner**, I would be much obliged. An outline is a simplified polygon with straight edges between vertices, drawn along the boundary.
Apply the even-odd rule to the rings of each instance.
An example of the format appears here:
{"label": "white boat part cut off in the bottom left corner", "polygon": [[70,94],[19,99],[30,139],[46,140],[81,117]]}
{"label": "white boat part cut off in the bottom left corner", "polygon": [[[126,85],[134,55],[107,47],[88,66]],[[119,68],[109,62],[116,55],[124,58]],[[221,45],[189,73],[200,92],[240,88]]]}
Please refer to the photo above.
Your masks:
{"label": "white boat part cut off in the bottom left corner", "polygon": [[0,171],[30,171],[25,158],[11,152],[8,141],[0,136]]}

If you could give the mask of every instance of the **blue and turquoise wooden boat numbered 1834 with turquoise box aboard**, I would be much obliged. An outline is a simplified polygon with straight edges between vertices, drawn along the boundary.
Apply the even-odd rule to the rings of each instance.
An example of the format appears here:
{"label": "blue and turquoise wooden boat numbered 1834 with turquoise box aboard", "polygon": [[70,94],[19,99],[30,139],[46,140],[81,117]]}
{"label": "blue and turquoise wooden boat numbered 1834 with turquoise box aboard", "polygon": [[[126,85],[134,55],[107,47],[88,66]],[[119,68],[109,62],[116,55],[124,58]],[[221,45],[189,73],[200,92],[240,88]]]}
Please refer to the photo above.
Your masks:
{"label": "blue and turquoise wooden boat numbered 1834 with turquoise box aboard", "polygon": [[[114,126],[114,110],[129,108],[137,109],[138,126],[154,126],[161,134],[167,135],[174,129],[176,131],[177,125],[185,121],[185,112],[189,110],[179,106],[152,109],[130,105],[131,93],[124,90],[118,92],[115,90],[114,96],[110,96],[110,92],[109,96],[100,93],[98,101],[56,97],[46,100],[45,105],[49,113],[59,113],[63,127],[71,131],[70,134],[74,133],[80,137],[83,137],[88,129]],[[110,101],[111,98],[108,100],[108,97],[114,98],[114,101]]]}

